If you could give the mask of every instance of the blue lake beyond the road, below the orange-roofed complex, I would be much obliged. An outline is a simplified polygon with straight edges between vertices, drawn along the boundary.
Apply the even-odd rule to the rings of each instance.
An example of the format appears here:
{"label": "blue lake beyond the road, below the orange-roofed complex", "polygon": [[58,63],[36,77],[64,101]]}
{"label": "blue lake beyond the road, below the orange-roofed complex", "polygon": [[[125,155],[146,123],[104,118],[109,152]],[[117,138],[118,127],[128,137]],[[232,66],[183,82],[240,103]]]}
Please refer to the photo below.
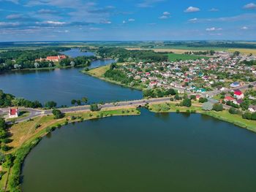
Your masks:
{"label": "blue lake beyond the road, below the orange-roofed complex", "polygon": [[[91,68],[111,64],[114,60],[93,61]],[[0,89],[29,100],[56,101],[70,105],[72,99],[89,98],[90,102],[141,99],[142,93],[104,82],[81,69],[54,69],[0,74]]]}

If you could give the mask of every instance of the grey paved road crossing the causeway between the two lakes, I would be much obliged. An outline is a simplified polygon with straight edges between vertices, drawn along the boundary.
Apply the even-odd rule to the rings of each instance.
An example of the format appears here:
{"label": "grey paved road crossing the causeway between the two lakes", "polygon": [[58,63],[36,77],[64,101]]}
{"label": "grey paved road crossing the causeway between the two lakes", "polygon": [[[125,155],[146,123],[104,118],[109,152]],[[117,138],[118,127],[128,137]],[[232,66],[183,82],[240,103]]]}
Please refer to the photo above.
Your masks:
{"label": "grey paved road crossing the causeway between the two lakes", "polygon": [[[256,87],[256,82],[252,82],[252,83],[250,83],[250,85],[253,85]],[[237,88],[226,89],[225,91],[208,91],[206,93],[200,93],[200,94],[205,97],[212,97],[212,96],[218,95],[219,93],[222,93],[222,92],[227,93],[229,91],[234,91],[236,89],[244,90],[246,88],[248,88],[248,85],[242,85]],[[195,93],[188,93],[188,96],[192,95],[192,94],[195,94]],[[108,109],[111,107],[143,107],[147,103],[154,104],[157,102],[166,102],[166,101],[170,101],[170,97],[162,97],[162,98],[156,98],[156,99],[140,99],[140,100],[134,100],[134,101],[120,101],[120,102],[116,102],[116,103],[106,103],[106,104],[101,104],[100,108]],[[214,100],[211,98],[208,98],[208,101],[211,101],[212,103],[218,102],[217,100]],[[230,106],[224,105],[224,108],[229,109]],[[28,111],[29,116],[26,116],[24,118],[19,118],[18,120],[15,121],[16,123],[20,123],[20,122],[29,120],[31,118],[35,118],[39,115],[51,115],[52,114],[52,110],[37,110],[37,109],[23,108],[23,107],[21,107],[20,110]],[[60,108],[59,110],[61,110],[61,112],[63,112],[63,113],[89,111],[90,106],[83,105],[83,106],[78,106],[78,107]],[[6,112],[8,112],[7,108],[0,108],[0,115],[4,114]],[[9,122],[9,123],[11,123],[11,122]]]}

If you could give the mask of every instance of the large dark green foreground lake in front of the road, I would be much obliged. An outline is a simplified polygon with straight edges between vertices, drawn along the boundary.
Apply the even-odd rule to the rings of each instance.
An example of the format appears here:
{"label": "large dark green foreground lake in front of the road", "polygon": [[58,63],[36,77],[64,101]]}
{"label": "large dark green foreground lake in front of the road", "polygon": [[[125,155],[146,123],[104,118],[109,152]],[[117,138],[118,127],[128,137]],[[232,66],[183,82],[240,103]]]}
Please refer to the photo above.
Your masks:
{"label": "large dark green foreground lake in front of the road", "polygon": [[256,135],[202,115],[112,117],[42,139],[23,191],[256,191]]}

